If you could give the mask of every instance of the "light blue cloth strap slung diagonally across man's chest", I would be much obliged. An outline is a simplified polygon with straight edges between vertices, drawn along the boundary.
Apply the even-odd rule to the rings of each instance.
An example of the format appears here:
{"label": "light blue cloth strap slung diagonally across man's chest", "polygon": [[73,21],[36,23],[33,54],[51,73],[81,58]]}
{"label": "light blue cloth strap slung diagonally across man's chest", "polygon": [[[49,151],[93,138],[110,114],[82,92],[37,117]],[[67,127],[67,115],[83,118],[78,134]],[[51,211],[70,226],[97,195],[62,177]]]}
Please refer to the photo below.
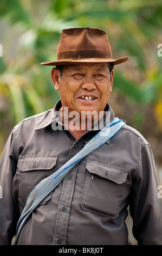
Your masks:
{"label": "light blue cloth strap slung diagonally across man's chest", "polygon": [[47,178],[41,180],[29,193],[27,197],[27,204],[20,216],[17,223],[16,238],[14,245],[17,244],[18,237],[22,227],[30,216],[30,214],[37,208],[37,206],[50,194],[54,188],[60,184],[64,177],[70,172],[70,170],[79,163],[85,156],[90,152],[98,149],[102,144],[112,138],[116,132],[118,132],[122,126],[124,126],[124,121],[114,118],[108,125],[104,126],[88,143],[85,144],[79,153],[72,157],[67,163],[58,169],[56,172],[48,176]]}

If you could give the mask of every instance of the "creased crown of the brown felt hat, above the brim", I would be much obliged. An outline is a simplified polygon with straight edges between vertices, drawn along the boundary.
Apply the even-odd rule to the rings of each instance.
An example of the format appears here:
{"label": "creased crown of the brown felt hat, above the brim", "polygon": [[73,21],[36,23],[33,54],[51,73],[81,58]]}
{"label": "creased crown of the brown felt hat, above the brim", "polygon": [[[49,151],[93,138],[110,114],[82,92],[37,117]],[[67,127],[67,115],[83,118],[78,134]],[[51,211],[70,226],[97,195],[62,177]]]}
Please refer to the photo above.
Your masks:
{"label": "creased crown of the brown felt hat, above the brim", "polygon": [[85,58],[112,58],[106,32],[89,27],[63,29],[57,47],[57,61]]}

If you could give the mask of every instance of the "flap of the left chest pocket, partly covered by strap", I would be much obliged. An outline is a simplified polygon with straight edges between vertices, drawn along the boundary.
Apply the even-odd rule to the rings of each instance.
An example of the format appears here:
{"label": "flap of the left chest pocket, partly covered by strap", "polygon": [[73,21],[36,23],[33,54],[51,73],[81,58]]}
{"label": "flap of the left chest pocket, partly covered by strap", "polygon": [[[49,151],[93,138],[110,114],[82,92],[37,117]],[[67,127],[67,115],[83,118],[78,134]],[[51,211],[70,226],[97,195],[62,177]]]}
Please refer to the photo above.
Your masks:
{"label": "flap of the left chest pocket, partly covered by strap", "polygon": [[56,165],[57,155],[25,155],[20,156],[17,168],[21,172],[28,170],[50,170]]}

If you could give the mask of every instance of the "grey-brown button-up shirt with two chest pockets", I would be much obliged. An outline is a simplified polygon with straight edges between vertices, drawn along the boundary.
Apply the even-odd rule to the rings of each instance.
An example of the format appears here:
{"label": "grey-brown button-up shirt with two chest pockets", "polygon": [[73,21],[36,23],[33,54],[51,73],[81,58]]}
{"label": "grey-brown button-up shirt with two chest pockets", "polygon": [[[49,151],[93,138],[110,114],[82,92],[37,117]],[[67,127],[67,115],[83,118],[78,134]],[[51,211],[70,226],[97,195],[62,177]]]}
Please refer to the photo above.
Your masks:
{"label": "grey-brown button-up shirt with two chest pockets", "polygon": [[[98,131],[75,139],[53,130],[54,109],[21,121],[0,161],[0,244],[10,245],[32,188],[71,159]],[[111,120],[114,113],[107,104]],[[139,245],[162,244],[162,206],[150,145],[125,125],[78,163],[25,222],[18,245],[127,245],[127,207]]]}

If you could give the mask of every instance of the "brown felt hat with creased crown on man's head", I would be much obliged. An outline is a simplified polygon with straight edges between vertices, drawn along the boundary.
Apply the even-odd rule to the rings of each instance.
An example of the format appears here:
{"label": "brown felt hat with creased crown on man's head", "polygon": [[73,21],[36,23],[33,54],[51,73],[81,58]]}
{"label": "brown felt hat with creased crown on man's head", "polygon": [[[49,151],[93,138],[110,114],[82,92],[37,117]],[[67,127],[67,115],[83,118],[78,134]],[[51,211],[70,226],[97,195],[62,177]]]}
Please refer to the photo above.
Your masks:
{"label": "brown felt hat with creased crown on man's head", "polygon": [[129,57],[112,59],[111,46],[105,31],[99,28],[67,28],[61,31],[57,47],[57,61],[42,62],[42,65],[69,65],[76,63],[126,62]]}

